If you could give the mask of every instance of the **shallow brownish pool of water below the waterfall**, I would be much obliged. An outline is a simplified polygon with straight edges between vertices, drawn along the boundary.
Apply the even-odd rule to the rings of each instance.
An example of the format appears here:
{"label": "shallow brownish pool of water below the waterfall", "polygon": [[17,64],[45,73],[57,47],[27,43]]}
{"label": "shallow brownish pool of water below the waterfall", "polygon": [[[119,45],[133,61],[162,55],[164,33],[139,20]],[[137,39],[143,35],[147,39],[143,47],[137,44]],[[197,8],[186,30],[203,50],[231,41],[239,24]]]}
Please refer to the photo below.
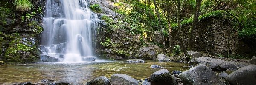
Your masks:
{"label": "shallow brownish pool of water below the waterfall", "polygon": [[184,63],[155,62],[128,64],[123,61],[97,61],[84,63],[36,63],[29,65],[0,65],[0,85],[18,82],[40,82],[41,79],[53,79],[57,82],[72,82],[82,85],[99,76],[110,78],[112,74],[128,74],[135,79],[145,79],[160,69],[150,68],[156,64],[169,71],[186,71]]}

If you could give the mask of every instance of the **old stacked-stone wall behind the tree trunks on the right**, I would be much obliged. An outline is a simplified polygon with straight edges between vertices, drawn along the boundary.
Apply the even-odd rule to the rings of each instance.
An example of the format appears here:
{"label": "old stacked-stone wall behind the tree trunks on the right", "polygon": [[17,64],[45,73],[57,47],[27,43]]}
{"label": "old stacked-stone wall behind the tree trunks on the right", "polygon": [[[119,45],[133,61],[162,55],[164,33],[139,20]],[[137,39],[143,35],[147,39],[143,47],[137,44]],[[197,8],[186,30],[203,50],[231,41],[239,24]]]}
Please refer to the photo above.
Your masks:
{"label": "old stacked-stone wall behind the tree trunks on the right", "polygon": [[[238,33],[233,28],[232,20],[208,18],[201,20],[194,31],[193,51],[203,51],[210,54],[236,54]],[[182,27],[183,39],[188,46],[189,28],[191,24]],[[180,45],[177,30],[169,34],[169,48]]]}

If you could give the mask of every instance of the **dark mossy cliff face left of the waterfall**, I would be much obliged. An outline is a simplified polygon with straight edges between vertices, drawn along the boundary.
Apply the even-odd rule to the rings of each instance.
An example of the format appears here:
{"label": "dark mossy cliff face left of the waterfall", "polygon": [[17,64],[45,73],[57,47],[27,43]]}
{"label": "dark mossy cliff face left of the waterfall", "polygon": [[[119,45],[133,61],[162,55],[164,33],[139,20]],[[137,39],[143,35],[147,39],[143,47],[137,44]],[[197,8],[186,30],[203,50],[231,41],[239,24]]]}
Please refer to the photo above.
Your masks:
{"label": "dark mossy cliff face left of the waterfall", "polygon": [[0,1],[0,60],[30,63],[40,60],[38,37],[43,31],[44,0],[33,0],[30,11],[19,12],[12,0]]}

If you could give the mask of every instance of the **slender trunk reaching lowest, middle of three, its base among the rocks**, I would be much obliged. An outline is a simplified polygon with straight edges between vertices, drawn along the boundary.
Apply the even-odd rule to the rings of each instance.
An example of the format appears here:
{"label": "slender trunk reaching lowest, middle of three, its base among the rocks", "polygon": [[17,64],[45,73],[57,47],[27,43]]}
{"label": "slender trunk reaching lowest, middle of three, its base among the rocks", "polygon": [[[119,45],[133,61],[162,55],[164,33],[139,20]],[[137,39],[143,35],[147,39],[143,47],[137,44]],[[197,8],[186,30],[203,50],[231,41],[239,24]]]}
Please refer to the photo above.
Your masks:
{"label": "slender trunk reaching lowest, middle of three, its base among the rocks", "polygon": [[188,54],[188,51],[186,51],[186,45],[185,45],[185,43],[184,43],[184,41],[183,41],[183,38],[182,38],[182,34],[181,34],[181,25],[180,25],[180,22],[181,22],[181,19],[180,19],[180,14],[181,14],[181,12],[180,12],[180,0],[177,0],[177,4],[178,4],[178,14],[177,14],[177,20],[178,20],[178,36],[179,36],[179,38],[180,38],[180,44],[181,44],[181,46],[182,46],[182,50],[183,50],[183,52],[184,52],[184,54],[185,54],[185,57],[186,57],[186,61],[187,62],[189,62],[189,59],[190,59],[190,57],[189,57],[189,54]]}

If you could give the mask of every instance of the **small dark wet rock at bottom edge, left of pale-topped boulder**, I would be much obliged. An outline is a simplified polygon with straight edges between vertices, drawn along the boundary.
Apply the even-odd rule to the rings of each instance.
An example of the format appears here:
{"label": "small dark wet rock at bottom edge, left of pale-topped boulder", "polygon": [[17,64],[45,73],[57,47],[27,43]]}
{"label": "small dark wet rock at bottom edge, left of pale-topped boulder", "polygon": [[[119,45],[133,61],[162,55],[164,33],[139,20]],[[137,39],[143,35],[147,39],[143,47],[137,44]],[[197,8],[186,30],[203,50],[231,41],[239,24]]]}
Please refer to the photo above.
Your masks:
{"label": "small dark wet rock at bottom edge, left of pale-topped boulder", "polygon": [[110,85],[110,80],[105,76],[100,76],[87,82],[85,85]]}

